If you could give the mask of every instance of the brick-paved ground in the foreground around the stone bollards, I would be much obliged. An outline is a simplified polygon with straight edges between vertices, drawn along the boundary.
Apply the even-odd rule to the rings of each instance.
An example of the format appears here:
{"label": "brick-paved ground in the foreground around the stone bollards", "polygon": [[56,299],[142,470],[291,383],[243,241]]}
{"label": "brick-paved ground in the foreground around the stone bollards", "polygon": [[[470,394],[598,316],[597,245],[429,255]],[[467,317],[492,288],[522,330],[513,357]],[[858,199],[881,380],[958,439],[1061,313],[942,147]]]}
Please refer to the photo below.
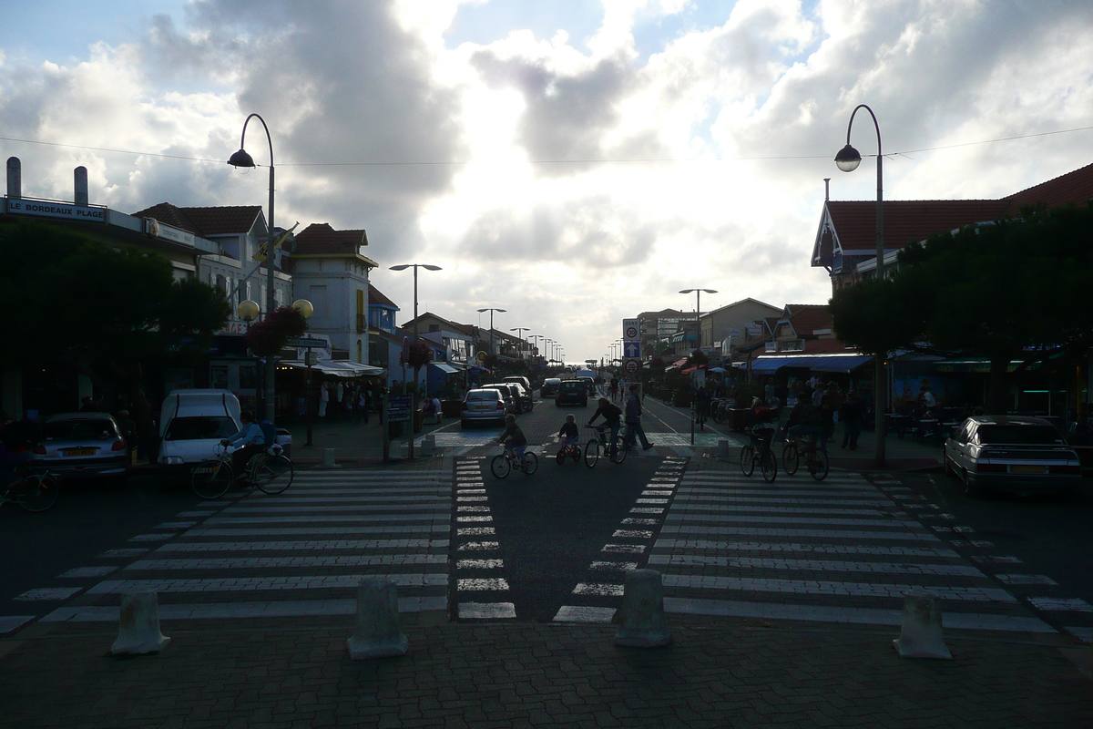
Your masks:
{"label": "brick-paved ground in the foreground around the stone bollards", "polygon": [[902,659],[891,630],[672,619],[665,648],[611,625],[408,625],[400,658],[352,661],[339,624],[187,624],[106,656],[105,626],[0,644],[2,727],[1093,726],[1089,679],[1032,642],[950,637]]}

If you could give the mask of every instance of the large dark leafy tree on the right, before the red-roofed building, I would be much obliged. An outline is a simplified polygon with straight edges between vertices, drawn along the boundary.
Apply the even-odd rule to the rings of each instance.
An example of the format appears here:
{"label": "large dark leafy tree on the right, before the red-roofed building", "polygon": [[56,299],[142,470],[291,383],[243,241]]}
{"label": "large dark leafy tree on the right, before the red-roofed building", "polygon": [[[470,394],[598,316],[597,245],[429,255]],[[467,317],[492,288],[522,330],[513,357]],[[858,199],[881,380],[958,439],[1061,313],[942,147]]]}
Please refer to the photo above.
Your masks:
{"label": "large dark leafy tree on the right, before the red-roofed building", "polygon": [[1025,210],[904,248],[890,281],[831,299],[839,339],[990,362],[990,412],[1006,411],[1009,367],[1093,343],[1093,207]]}

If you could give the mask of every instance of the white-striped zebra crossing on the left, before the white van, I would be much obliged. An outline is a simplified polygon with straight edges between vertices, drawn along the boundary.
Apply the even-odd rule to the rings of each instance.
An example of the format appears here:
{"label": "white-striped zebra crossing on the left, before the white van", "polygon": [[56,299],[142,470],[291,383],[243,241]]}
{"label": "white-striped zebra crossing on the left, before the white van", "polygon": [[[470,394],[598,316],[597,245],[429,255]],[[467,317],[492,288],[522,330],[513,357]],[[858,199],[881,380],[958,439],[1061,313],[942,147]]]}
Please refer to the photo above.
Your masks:
{"label": "white-striped zebra crossing on the left, before the white van", "polygon": [[199,508],[101,555],[138,558],[43,621],[114,621],[145,590],[167,620],[348,615],[363,577],[395,581],[400,612],[447,610],[449,471],[302,471],[282,494]]}

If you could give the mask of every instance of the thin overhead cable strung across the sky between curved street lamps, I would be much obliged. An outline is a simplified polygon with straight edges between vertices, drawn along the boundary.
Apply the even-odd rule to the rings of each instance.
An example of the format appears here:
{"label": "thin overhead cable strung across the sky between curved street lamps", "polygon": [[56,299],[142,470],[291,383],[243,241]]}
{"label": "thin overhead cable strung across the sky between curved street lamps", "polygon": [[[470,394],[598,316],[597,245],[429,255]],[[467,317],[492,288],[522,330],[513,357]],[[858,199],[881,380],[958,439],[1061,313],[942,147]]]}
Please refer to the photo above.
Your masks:
{"label": "thin overhead cable strung across the sky between curved street lamps", "polygon": [[[953,150],[961,146],[974,146],[978,144],[995,144],[998,142],[1012,142],[1021,139],[1035,139],[1037,137],[1050,137],[1054,134],[1069,134],[1077,131],[1089,131],[1093,127],[1077,127],[1074,129],[1057,129],[1054,131],[1042,131],[1032,134],[1018,134],[1014,137],[999,137],[997,139],[985,139],[975,142],[960,142],[956,144],[943,144],[940,146],[924,146],[917,150],[903,150],[898,152],[886,152],[884,156],[910,155],[918,152],[936,152],[939,150]],[[134,156],[158,157],[163,160],[181,160],[184,162],[211,162],[215,164],[226,164],[224,160],[209,160],[205,157],[190,157],[181,154],[161,154],[156,152],[137,152],[133,150],[116,150],[107,146],[86,146],[82,144],[63,144],[60,142],[44,142],[35,139],[15,139],[12,137],[0,137],[0,141],[17,142],[21,144],[39,144],[43,146],[59,146],[72,150],[85,150],[89,152],[108,152],[111,154],[131,154]],[[875,155],[863,155],[875,156]],[[687,162],[755,162],[755,161],[778,161],[778,160],[830,160],[827,154],[798,154],[798,155],[765,155],[765,156],[740,156],[740,157],[637,157],[628,160],[615,160],[610,157],[593,160],[528,160],[531,165],[590,165],[590,164],[680,164]],[[461,166],[473,164],[470,161],[455,162],[282,162],[280,167],[444,167]],[[256,165],[263,167],[265,165]]]}

